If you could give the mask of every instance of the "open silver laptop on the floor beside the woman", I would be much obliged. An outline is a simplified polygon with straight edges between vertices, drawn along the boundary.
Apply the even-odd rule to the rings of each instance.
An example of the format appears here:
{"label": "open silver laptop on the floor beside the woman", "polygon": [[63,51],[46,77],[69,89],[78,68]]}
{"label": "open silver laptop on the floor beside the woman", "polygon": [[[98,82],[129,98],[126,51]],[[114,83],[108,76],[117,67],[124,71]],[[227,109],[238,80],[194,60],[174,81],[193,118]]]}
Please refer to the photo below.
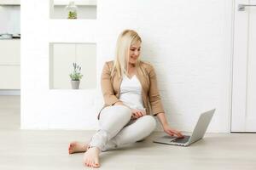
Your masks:
{"label": "open silver laptop on the floor beside the woman", "polygon": [[207,132],[207,127],[212,120],[212,116],[215,109],[211,111],[206,111],[201,114],[198,119],[198,122],[195,125],[194,131],[191,136],[184,135],[183,139],[172,137],[169,135],[159,137],[154,139],[155,143],[160,144],[173,144],[173,145],[180,145],[180,146],[189,146],[190,144],[202,139]]}

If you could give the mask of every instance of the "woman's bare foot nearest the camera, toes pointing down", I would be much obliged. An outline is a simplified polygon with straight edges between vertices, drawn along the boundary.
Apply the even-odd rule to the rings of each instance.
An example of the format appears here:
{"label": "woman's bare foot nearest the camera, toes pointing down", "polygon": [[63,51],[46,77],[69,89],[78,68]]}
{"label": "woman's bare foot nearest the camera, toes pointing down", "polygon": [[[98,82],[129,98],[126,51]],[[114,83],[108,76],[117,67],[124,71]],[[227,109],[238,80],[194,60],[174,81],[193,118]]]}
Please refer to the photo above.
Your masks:
{"label": "woman's bare foot nearest the camera, toes pointing down", "polygon": [[84,165],[87,167],[100,167],[99,161],[100,149],[97,147],[89,148],[84,153]]}

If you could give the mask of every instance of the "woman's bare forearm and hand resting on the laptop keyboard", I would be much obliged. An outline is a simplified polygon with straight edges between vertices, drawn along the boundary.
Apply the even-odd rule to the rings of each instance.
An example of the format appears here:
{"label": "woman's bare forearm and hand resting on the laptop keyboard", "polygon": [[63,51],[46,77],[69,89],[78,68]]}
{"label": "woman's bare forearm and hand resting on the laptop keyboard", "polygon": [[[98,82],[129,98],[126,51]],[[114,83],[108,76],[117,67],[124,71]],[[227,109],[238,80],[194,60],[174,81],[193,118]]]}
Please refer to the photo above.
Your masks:
{"label": "woman's bare forearm and hand resting on the laptop keyboard", "polygon": [[166,119],[166,115],[165,113],[159,113],[156,115],[158,120],[160,121],[164,131],[171,135],[171,136],[174,136],[176,135],[178,138],[183,138],[183,134],[179,131],[177,131],[176,129],[172,128],[169,126],[169,123],[167,122],[167,119]]}

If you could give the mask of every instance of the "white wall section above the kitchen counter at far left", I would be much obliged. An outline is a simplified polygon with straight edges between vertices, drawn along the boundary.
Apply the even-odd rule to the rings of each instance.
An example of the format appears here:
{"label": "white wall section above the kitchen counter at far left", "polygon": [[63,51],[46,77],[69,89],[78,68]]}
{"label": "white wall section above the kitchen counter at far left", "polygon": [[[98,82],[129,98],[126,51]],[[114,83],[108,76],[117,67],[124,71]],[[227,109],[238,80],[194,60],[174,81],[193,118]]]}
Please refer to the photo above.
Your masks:
{"label": "white wall section above the kitchen counter at far left", "polygon": [[0,6],[0,34],[20,33],[20,6]]}

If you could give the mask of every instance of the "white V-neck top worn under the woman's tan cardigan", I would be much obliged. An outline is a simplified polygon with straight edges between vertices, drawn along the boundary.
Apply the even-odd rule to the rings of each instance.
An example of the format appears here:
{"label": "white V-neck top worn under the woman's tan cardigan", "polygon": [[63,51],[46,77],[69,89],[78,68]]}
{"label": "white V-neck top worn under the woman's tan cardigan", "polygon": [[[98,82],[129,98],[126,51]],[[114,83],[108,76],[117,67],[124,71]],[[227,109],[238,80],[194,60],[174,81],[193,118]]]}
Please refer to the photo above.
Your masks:
{"label": "white V-neck top worn under the woman's tan cardigan", "polygon": [[120,86],[119,99],[132,109],[145,111],[143,107],[142,85],[136,75],[131,77],[131,79],[124,75]]}

